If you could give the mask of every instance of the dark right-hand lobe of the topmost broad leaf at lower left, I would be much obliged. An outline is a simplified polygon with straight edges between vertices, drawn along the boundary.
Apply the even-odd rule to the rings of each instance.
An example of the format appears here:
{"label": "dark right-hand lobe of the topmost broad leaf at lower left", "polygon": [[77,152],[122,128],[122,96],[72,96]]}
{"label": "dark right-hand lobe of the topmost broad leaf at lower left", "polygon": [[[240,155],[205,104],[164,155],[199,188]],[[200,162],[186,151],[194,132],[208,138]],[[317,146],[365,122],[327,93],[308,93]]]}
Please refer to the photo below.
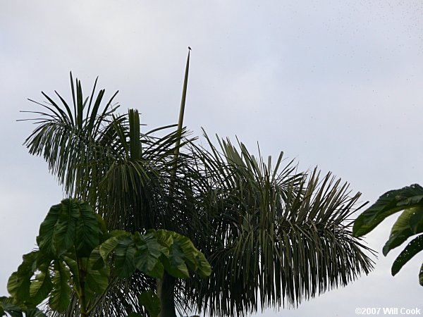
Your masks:
{"label": "dark right-hand lobe of the topmost broad leaf at lower left", "polygon": [[100,243],[102,228],[91,207],[78,201],[80,215],[76,224],[75,247],[78,257],[88,257]]}

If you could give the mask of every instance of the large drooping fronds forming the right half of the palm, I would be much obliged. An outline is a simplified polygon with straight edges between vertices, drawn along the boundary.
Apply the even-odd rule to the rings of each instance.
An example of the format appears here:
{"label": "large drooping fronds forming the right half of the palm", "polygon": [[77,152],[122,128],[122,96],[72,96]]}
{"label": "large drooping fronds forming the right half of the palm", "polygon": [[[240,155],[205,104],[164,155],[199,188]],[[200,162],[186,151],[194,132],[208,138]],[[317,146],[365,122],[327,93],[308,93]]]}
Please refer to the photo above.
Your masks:
{"label": "large drooping fronds forming the right half of the palm", "polygon": [[360,193],[350,197],[348,185],[330,174],[320,181],[317,170],[295,173],[292,162],[272,170],[270,159],[256,159],[243,144],[237,151],[222,140],[220,154],[209,146],[204,166],[216,177],[216,218],[209,224],[216,234],[203,250],[212,276],[195,280],[189,295],[200,310],[235,316],[296,306],[369,273],[369,249],[351,236],[347,223]]}

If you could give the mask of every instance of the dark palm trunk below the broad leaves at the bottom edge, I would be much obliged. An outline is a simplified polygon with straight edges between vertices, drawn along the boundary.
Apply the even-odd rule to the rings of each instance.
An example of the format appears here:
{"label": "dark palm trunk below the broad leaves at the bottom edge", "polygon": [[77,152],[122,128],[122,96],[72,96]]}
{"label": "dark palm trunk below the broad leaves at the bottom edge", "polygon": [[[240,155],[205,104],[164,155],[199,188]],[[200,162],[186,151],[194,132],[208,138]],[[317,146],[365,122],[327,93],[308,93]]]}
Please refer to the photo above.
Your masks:
{"label": "dark palm trunk below the broad leaves at the bottom edge", "polygon": [[175,282],[173,276],[164,273],[163,278],[157,279],[157,296],[160,299],[159,317],[176,317]]}

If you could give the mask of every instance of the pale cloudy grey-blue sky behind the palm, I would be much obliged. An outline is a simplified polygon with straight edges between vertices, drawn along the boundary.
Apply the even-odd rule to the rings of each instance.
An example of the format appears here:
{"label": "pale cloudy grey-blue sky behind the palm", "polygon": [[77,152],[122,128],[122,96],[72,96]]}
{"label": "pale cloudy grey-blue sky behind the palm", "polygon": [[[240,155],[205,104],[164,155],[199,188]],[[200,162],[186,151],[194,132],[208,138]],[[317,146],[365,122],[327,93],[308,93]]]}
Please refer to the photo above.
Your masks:
{"label": "pale cloudy grey-blue sky behind the palm", "polygon": [[[63,198],[47,164],[22,146],[35,127],[17,122],[28,116],[19,111],[38,110],[27,98],[57,90],[69,99],[69,71],[89,94],[98,75],[97,87],[119,90],[122,112],[138,108],[147,128],[176,123],[190,46],[184,124],[193,135],[204,128],[252,151],[258,142],[264,156],[283,151],[374,202],[423,184],[422,17],[414,0],[0,0],[0,295]],[[381,252],[391,218],[369,247]],[[255,316],[423,311],[422,254],[391,276],[401,249],[379,254],[375,270],[347,287]]]}

